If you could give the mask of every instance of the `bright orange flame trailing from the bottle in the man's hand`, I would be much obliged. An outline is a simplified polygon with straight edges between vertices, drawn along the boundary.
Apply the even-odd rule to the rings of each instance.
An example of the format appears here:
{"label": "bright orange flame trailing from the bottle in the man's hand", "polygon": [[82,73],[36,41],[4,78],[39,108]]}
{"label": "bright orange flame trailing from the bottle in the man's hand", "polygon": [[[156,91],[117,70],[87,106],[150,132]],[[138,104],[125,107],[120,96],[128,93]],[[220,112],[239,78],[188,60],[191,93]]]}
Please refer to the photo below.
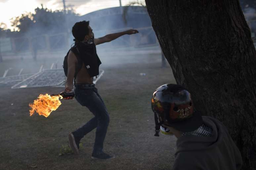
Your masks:
{"label": "bright orange flame trailing from the bottle in the man's hand", "polygon": [[29,106],[32,108],[29,110],[30,116],[37,112],[39,115],[48,117],[53,110],[58,109],[61,105],[59,98],[63,99],[61,95],[59,96],[50,96],[48,94],[40,94],[38,99],[34,100],[34,103],[29,103]]}

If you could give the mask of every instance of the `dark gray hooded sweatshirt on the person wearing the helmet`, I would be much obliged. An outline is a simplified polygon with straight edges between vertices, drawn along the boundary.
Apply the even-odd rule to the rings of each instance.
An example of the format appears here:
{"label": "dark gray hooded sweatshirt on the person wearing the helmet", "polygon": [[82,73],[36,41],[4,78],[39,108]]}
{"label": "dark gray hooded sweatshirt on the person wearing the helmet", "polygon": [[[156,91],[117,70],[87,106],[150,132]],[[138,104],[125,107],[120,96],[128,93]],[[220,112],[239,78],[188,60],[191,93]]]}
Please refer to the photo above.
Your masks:
{"label": "dark gray hooded sweatshirt on the person wearing the helmet", "polygon": [[211,136],[184,135],[177,140],[174,170],[239,170],[241,153],[217,119],[203,116],[203,123],[213,129]]}

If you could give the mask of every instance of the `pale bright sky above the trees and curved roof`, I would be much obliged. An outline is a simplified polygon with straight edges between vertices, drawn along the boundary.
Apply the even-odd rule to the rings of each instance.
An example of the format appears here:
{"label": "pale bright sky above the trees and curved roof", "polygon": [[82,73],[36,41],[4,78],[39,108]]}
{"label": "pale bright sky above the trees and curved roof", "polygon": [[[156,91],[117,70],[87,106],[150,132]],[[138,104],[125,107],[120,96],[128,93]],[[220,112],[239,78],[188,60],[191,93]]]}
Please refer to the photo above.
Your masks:
{"label": "pale bright sky above the trees and curved roof", "polygon": [[[124,6],[134,1],[137,0],[121,0],[121,3]],[[63,9],[63,0],[0,0],[0,23],[3,22],[8,29],[13,29],[10,21],[12,17],[26,12],[34,13],[34,9],[41,8],[41,4],[53,11]],[[84,15],[105,8],[118,7],[120,3],[119,0],[65,0],[65,5]]]}

